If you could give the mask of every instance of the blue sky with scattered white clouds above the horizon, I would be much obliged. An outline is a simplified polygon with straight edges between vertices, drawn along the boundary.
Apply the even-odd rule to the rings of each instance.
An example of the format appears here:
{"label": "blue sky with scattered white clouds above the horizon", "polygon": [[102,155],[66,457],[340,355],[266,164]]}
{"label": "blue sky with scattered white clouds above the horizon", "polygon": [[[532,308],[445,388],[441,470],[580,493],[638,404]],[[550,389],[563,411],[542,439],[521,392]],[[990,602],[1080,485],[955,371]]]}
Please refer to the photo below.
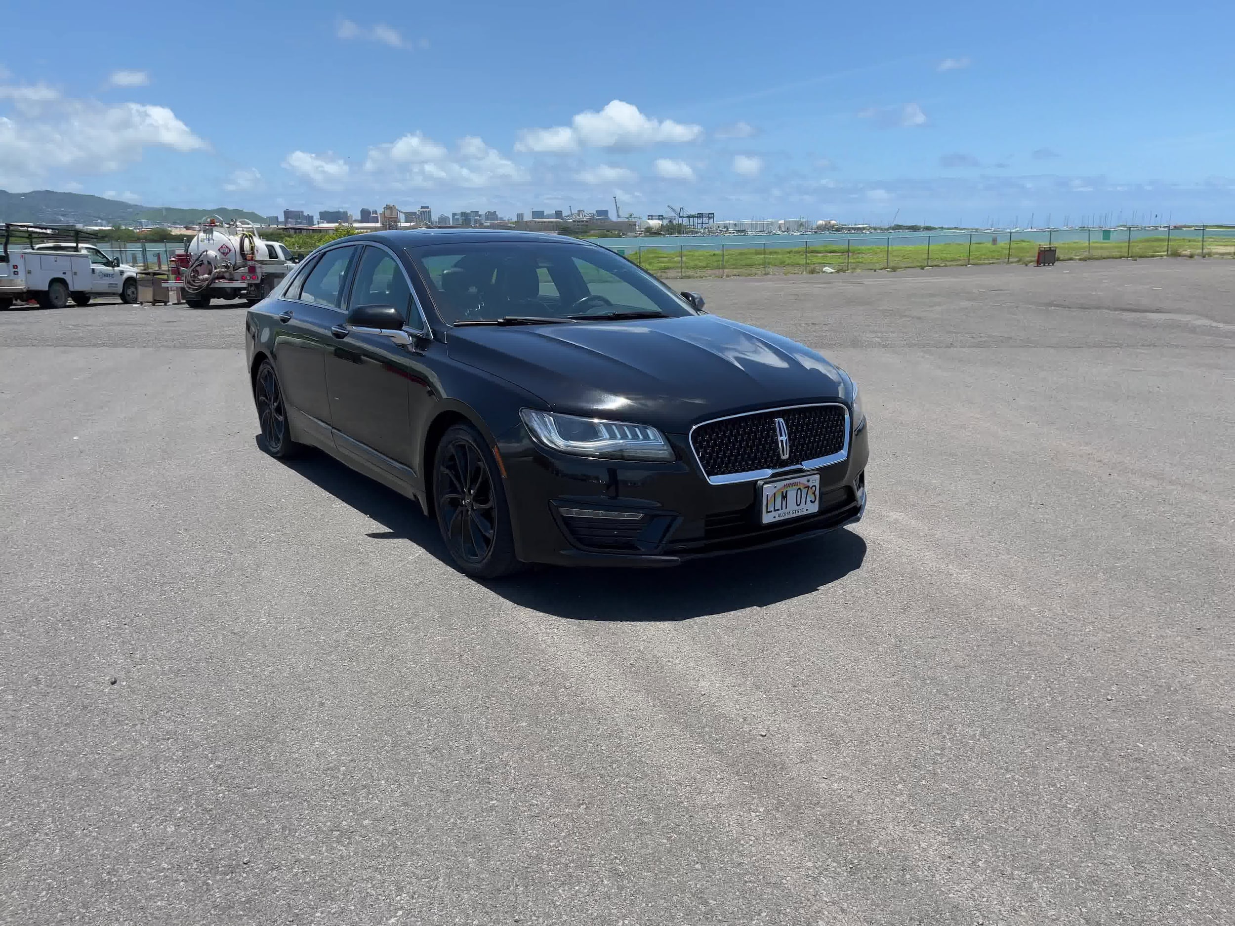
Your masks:
{"label": "blue sky with scattered white clouds above the horizon", "polygon": [[0,188],[1235,221],[1229,1],[994,6],[61,2],[5,21]]}

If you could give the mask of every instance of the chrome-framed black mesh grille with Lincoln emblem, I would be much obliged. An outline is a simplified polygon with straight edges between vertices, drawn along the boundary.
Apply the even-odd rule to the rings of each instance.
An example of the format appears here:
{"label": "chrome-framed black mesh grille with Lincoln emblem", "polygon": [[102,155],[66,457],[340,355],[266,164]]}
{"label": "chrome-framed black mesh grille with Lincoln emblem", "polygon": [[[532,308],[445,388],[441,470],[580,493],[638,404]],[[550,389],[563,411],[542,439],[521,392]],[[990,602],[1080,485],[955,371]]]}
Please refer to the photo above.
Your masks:
{"label": "chrome-framed black mesh grille with Lincoln emblem", "polygon": [[[781,454],[777,419],[784,421],[788,457]],[[753,411],[708,421],[690,432],[690,446],[713,480],[834,457],[847,441],[848,412],[839,404]]]}

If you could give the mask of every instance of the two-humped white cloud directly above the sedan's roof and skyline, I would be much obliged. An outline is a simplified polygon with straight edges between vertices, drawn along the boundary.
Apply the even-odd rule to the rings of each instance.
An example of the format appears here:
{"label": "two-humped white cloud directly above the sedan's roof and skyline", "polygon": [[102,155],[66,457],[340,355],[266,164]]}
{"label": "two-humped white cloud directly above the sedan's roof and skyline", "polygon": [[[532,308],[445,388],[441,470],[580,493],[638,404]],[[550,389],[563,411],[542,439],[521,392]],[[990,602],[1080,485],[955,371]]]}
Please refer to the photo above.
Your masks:
{"label": "two-humped white cloud directly above the sedan's roof and skyline", "polygon": [[364,170],[383,183],[417,189],[477,189],[527,179],[522,167],[474,135],[459,138],[452,153],[421,132],[412,132],[389,144],[371,147]]}

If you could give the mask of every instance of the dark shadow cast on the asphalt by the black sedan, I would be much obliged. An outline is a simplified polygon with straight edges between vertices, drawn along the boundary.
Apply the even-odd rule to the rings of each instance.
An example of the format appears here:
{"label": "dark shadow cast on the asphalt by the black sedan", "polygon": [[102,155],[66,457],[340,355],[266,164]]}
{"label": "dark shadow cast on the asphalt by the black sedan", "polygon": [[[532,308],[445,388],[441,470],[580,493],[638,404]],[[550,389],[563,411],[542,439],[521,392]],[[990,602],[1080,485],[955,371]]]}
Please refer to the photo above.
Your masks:
{"label": "dark shadow cast on the asphalt by the black sedan", "polygon": [[[436,522],[415,501],[316,451],[287,465],[382,525],[373,540],[410,541],[454,568]],[[866,541],[841,528],[668,569],[537,567],[484,584],[513,604],[569,620],[684,621],[809,595],[860,569],[865,557]]]}

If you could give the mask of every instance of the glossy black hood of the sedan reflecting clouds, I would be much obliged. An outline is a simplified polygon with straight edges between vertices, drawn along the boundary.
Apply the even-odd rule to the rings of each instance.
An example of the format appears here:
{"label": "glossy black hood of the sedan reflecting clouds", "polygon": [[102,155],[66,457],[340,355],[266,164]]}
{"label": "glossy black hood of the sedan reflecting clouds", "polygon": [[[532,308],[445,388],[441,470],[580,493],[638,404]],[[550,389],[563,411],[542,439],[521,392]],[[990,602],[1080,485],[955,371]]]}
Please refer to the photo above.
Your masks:
{"label": "glossy black hood of the sedan reflecting clouds", "polygon": [[448,349],[555,411],[677,432],[727,412],[842,394],[836,368],[810,348],[715,315],[458,327]]}

